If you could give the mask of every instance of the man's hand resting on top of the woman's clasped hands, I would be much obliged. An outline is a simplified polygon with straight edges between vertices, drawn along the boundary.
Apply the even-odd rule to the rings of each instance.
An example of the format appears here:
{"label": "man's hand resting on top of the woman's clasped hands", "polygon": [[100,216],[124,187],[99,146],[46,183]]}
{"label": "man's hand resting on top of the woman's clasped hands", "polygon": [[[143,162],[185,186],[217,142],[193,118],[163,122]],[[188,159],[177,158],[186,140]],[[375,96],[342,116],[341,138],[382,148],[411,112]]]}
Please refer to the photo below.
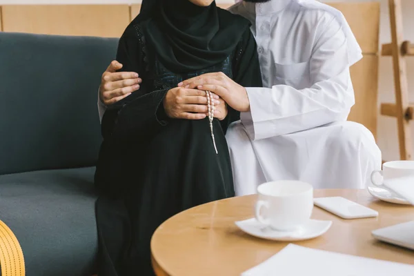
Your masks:
{"label": "man's hand resting on top of the woman's clasped hands", "polygon": [[235,83],[233,79],[227,77],[223,72],[208,73],[187,79],[178,84],[183,88],[197,88],[199,90],[208,90],[224,99],[226,103],[240,112],[250,110],[250,101],[246,88]]}

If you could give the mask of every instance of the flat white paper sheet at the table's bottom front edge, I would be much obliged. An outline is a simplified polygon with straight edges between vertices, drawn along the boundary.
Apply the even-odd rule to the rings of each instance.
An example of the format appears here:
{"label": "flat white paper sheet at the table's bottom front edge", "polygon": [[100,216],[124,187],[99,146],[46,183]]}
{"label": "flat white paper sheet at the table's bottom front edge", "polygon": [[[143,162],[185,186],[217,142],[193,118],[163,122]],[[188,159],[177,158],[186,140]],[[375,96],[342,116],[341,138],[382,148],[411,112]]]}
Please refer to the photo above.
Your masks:
{"label": "flat white paper sheet at the table's bottom front edge", "polygon": [[242,276],[413,276],[414,266],[289,244]]}

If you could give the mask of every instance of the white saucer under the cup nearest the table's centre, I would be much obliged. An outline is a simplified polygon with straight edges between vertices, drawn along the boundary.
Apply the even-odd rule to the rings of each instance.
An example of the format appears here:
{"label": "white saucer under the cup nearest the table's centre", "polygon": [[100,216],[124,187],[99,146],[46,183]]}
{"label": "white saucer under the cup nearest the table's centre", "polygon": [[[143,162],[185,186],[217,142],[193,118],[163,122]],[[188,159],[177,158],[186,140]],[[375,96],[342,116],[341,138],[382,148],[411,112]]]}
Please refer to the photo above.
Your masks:
{"label": "white saucer under the cup nearest the table's centre", "polygon": [[331,227],[332,221],[309,219],[308,223],[304,225],[302,229],[294,232],[273,230],[270,227],[261,224],[255,218],[236,221],[235,224],[244,232],[254,237],[280,242],[295,242],[319,237],[326,233]]}

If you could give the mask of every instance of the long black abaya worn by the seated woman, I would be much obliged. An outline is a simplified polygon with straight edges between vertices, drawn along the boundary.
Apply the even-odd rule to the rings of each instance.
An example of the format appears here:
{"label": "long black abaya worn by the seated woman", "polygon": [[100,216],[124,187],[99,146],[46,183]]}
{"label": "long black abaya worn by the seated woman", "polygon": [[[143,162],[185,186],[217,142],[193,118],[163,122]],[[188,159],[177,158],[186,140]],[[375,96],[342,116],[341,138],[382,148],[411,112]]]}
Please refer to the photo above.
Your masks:
{"label": "long black abaya worn by the seated woman", "polygon": [[95,174],[101,191],[96,210],[99,276],[152,275],[150,238],[163,221],[187,208],[235,195],[225,134],[239,112],[228,108],[223,121],[214,119],[216,155],[208,119],[165,115],[162,101],[168,90],[206,72],[224,72],[242,86],[262,86],[248,25],[221,62],[180,73],[167,69],[146,42],[146,26],[146,21],[128,26],[117,54],[123,70],[139,72],[141,88],[108,106],[102,120]]}

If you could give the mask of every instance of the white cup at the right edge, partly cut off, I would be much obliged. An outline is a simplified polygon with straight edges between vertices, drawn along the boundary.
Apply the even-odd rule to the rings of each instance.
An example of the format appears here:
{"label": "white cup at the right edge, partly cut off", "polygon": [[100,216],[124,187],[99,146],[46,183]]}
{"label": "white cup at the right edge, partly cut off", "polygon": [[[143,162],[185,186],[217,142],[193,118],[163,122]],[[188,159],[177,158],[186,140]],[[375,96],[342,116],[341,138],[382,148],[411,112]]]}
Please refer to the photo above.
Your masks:
{"label": "white cup at the right edge, partly cut off", "polygon": [[[382,177],[381,181],[377,181],[377,175]],[[381,188],[386,189],[387,182],[396,179],[408,179],[414,177],[414,161],[391,161],[382,165],[382,170],[374,170],[371,174],[371,182]],[[407,185],[413,184],[413,181],[406,181]]]}

